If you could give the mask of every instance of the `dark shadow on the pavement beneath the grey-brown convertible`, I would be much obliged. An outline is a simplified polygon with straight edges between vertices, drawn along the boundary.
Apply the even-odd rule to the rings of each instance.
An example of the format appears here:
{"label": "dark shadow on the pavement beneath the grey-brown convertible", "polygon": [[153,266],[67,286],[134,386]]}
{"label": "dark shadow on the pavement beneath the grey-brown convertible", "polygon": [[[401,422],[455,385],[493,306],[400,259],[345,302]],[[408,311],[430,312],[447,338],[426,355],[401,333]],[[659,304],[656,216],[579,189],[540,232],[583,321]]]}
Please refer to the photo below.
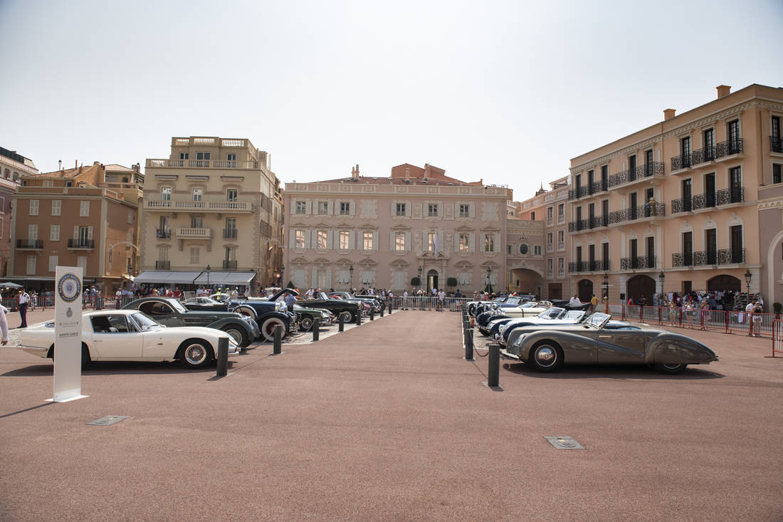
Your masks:
{"label": "dark shadow on the pavement beneath the grey-brown convertible", "polygon": [[645,364],[575,364],[557,372],[536,372],[525,363],[503,363],[503,369],[525,377],[543,379],[722,379],[725,375],[688,366],[679,375],[656,372]]}

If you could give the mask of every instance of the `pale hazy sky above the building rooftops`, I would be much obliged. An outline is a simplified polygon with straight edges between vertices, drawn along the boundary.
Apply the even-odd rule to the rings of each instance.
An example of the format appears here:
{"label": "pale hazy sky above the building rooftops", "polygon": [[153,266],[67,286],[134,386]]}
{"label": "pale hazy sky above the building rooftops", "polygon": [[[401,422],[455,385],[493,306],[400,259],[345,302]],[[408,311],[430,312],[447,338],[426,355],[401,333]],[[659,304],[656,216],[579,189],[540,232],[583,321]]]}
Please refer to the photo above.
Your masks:
{"label": "pale hazy sky above the building rooftops", "polygon": [[0,0],[0,146],[50,171],[246,137],[283,182],[430,163],[521,200],[716,85],[783,86],[781,34],[781,0]]}

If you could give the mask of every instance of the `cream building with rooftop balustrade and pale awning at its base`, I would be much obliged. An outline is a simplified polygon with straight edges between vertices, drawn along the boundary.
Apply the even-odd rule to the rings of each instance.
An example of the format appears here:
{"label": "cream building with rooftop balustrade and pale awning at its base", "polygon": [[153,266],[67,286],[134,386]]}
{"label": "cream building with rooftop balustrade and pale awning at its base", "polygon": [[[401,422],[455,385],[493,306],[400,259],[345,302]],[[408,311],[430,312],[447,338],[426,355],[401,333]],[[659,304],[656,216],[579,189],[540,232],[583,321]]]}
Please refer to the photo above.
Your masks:
{"label": "cream building with rooftop balustrade and pale awning at its base", "polygon": [[272,282],[283,213],[270,159],[250,140],[211,136],[174,137],[168,158],[148,159],[137,282]]}

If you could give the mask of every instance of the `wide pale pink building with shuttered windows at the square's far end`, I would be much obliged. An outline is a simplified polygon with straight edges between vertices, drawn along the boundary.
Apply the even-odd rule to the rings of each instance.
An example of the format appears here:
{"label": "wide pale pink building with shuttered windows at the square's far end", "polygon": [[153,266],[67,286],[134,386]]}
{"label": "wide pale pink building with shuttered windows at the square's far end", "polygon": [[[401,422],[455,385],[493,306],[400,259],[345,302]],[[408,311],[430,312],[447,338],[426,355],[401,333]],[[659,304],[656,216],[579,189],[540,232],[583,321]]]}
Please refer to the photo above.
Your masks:
{"label": "wide pale pink building with shuttered windows at the square's far end", "polygon": [[397,165],[388,177],[360,176],[356,165],[350,177],[287,183],[283,198],[283,283],[398,293],[419,274],[428,290],[506,283],[507,187],[465,183],[432,165]]}

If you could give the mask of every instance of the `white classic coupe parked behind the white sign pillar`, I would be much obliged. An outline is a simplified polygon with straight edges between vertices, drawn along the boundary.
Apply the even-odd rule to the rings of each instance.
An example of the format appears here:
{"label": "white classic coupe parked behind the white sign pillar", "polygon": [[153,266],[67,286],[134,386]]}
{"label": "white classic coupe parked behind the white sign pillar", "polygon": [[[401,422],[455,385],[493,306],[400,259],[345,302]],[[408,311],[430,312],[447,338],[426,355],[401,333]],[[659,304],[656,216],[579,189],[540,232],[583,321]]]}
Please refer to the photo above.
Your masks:
{"label": "white classic coupe parked behind the white sign pillar", "polygon": [[[17,347],[38,357],[54,357],[54,321],[20,332]],[[81,367],[90,361],[179,361],[203,368],[215,360],[218,341],[228,339],[229,355],[240,347],[226,332],[185,326],[166,328],[138,310],[100,310],[81,315]]]}

